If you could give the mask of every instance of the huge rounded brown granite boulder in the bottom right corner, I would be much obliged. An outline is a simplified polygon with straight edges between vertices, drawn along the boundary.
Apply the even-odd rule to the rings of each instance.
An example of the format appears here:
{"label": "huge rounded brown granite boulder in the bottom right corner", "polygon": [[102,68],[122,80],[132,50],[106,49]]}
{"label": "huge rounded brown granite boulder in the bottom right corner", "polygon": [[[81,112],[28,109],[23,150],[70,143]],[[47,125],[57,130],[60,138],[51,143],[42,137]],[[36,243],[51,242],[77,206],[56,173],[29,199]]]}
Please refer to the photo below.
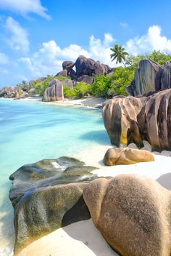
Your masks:
{"label": "huge rounded brown granite boulder in the bottom right corner", "polygon": [[140,175],[93,180],[83,190],[94,225],[122,256],[170,256],[171,193]]}

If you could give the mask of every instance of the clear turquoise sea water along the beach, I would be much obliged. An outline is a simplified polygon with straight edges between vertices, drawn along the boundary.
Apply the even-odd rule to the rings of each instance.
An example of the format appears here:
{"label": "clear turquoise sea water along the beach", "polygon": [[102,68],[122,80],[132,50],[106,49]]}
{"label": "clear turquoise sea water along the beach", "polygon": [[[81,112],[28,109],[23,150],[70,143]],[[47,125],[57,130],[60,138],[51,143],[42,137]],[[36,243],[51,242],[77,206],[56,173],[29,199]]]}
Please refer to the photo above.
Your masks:
{"label": "clear turquoise sea water along the beach", "polygon": [[22,164],[99,144],[109,145],[100,110],[0,100],[0,256],[10,255],[14,241],[9,175]]}

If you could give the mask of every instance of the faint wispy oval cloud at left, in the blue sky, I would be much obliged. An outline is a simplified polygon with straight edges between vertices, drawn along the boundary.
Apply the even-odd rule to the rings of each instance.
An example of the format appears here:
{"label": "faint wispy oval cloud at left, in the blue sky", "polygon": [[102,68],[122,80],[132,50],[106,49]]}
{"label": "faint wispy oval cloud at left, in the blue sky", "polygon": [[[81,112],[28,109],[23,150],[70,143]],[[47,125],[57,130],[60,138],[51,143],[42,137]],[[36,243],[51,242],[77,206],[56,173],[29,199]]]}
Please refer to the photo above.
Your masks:
{"label": "faint wispy oval cloud at left, in the blue sky", "polygon": [[10,37],[7,40],[9,47],[18,51],[28,52],[30,43],[28,41],[28,33],[25,31],[25,28],[22,28],[20,23],[12,17],[7,18],[5,27],[10,33]]}

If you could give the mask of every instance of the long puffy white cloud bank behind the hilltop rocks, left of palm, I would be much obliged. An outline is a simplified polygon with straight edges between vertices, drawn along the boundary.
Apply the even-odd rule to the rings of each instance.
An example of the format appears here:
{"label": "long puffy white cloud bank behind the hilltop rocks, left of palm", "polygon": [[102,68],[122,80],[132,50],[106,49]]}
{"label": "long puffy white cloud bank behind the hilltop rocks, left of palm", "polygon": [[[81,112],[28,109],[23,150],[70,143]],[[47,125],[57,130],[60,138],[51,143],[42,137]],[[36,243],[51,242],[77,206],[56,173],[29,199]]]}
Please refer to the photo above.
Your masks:
{"label": "long puffy white cloud bank behind the hilltop rocks, left of palm", "polygon": [[110,47],[114,43],[111,34],[105,33],[104,40],[90,37],[87,49],[80,47],[78,44],[70,44],[63,49],[57,45],[54,40],[44,42],[41,49],[35,52],[31,57],[21,57],[20,62],[25,63],[32,76],[46,76],[47,74],[55,74],[62,70],[62,62],[64,60],[75,61],[79,55],[91,57],[113,66],[114,63],[110,59]]}

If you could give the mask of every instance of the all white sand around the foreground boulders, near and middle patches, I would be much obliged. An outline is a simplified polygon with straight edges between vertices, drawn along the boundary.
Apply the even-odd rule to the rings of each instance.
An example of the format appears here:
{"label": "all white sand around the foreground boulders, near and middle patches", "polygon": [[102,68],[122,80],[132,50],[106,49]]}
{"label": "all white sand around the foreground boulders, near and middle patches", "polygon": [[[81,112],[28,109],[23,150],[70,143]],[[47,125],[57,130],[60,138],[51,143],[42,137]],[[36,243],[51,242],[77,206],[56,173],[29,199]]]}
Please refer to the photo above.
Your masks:
{"label": "all white sand around the foreground boulders, near and middle patches", "polygon": [[[134,147],[135,145],[130,145]],[[99,167],[93,171],[99,177],[116,176],[120,174],[139,174],[157,180],[164,188],[171,190],[171,152],[162,151],[162,153],[153,152],[155,161],[143,162],[130,165],[118,165],[114,167],[104,167],[103,157],[110,146],[99,145],[98,148],[91,148],[80,152],[75,156],[88,165]],[[144,141],[144,148],[151,150],[149,143]],[[18,256],[116,256],[107,242],[101,236],[101,233],[94,227],[92,220],[80,221],[65,228],[59,228],[57,231],[43,236],[34,241],[28,247],[18,254]]]}

